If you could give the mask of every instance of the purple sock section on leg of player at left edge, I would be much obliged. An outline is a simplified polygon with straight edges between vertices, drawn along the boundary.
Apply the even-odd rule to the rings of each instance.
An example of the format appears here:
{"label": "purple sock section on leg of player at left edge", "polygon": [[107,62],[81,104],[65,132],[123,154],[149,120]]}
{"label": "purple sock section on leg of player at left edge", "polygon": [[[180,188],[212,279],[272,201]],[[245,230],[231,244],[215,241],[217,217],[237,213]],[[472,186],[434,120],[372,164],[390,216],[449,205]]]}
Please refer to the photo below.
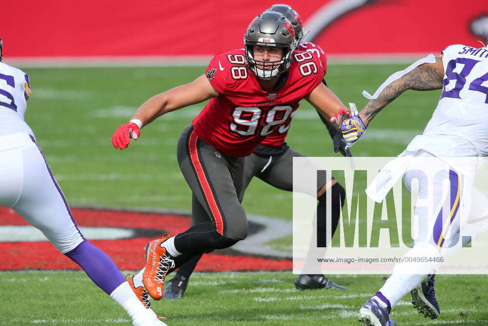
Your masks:
{"label": "purple sock section on leg of player at left edge", "polygon": [[88,277],[108,295],[125,282],[110,257],[87,240],[65,255],[79,264]]}

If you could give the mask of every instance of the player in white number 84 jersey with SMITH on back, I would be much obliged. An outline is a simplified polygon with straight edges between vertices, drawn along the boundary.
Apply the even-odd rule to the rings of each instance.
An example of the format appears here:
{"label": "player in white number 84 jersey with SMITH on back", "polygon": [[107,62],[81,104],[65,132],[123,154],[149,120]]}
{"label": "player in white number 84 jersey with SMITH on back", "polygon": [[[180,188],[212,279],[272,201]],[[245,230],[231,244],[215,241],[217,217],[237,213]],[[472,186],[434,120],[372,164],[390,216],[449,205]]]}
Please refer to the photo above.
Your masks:
{"label": "player in white number 84 jersey with SMITH on back", "polygon": [[[487,40],[488,41],[488,40]],[[459,210],[463,205],[469,205],[473,196],[479,197],[486,203],[486,197],[472,190],[473,167],[470,157],[476,162],[477,157],[488,156],[488,48],[474,48],[465,45],[447,46],[438,58],[430,55],[418,61],[402,72],[390,76],[374,95],[365,93],[370,101],[359,112],[340,112],[331,119],[335,120],[343,131],[344,138],[350,147],[366,131],[371,119],[387,104],[393,101],[407,89],[434,90],[441,89],[442,93],[432,118],[422,135],[416,136],[400,156],[426,157],[434,160],[434,164],[422,166],[419,160],[412,160],[405,167],[404,182],[411,191],[411,181],[419,182],[419,198],[432,198],[431,207],[415,207],[415,215],[419,216],[422,227],[431,226],[427,232],[429,238],[418,237],[409,253],[426,254],[426,256],[449,254],[449,248],[459,239]],[[346,118],[344,121],[342,121]],[[460,159],[457,160],[456,157]],[[462,158],[462,159],[461,159]],[[464,164],[468,161],[468,164]],[[417,169],[417,170],[412,170]],[[428,189],[428,179],[440,170],[440,175],[434,180],[433,190]],[[425,174],[424,174],[425,173]],[[448,179],[450,196],[442,199],[442,182]],[[438,190],[436,190],[438,189]],[[368,192],[374,198],[378,193]],[[383,193],[384,194],[384,193]],[[474,199],[473,199],[474,200]],[[478,199],[477,199],[478,200]],[[427,205],[427,206],[429,206]],[[482,211],[486,205],[478,202],[477,207],[471,206],[469,216],[480,217],[486,215]],[[443,214],[443,209],[445,213]],[[430,212],[430,213],[429,213]],[[433,213],[433,214],[432,214]],[[466,214],[463,211],[462,214]],[[448,217],[446,218],[446,216]],[[443,219],[444,218],[444,219]],[[469,219],[469,217],[468,217]],[[477,223],[478,230],[486,230],[486,221]],[[426,233],[427,233],[426,232]],[[463,242],[468,239],[463,239]],[[446,253],[446,254],[445,254]],[[414,255],[412,255],[414,256]],[[399,265],[397,265],[399,266]],[[360,321],[364,325],[396,325],[389,318],[391,308],[405,294],[411,291],[412,303],[432,319],[440,314],[434,290],[434,274],[406,274],[401,269],[394,269],[385,285],[360,310]],[[420,266],[420,265],[419,265]],[[428,265],[430,268],[430,265]],[[438,266],[431,270],[435,272]],[[409,271],[411,273],[411,271]]]}

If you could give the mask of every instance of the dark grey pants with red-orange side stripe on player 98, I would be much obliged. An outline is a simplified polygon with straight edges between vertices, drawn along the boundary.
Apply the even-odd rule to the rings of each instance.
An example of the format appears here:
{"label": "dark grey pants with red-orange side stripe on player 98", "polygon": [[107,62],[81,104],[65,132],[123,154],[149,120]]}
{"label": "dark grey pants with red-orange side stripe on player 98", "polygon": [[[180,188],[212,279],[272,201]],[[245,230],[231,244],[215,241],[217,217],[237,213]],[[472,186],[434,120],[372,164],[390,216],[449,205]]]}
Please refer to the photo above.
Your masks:
{"label": "dark grey pants with red-orange side stripe on player 98", "polygon": [[248,225],[238,195],[244,158],[235,158],[204,142],[187,126],[179,140],[178,163],[192,190],[191,225],[211,221],[214,231],[233,240],[247,237]]}

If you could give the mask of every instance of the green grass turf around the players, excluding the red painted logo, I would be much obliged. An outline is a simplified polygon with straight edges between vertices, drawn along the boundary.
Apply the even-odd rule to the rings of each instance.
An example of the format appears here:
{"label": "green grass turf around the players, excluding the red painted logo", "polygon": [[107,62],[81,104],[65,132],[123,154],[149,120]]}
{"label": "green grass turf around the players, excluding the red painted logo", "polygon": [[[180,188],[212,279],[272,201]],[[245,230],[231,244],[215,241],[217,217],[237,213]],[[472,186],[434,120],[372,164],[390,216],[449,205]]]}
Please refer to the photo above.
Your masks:
{"label": "green grass turf around the players, excluding the red painted logo", "polygon": [[[8,62],[7,62],[8,63]],[[361,108],[405,65],[331,65],[327,83],[344,103]],[[26,121],[72,206],[165,208],[188,211],[191,194],[176,162],[180,132],[203,108],[169,113],[142,129],[124,151],[110,141],[150,96],[190,82],[203,67],[23,69],[31,79]],[[395,156],[422,132],[440,91],[407,91],[372,122],[355,156]],[[335,156],[317,113],[305,101],[295,114],[288,145],[309,156]],[[264,199],[265,198],[265,199]],[[250,214],[292,218],[292,195],[255,179],[245,196]],[[279,230],[278,230],[279,232]],[[1,244],[0,244],[1,245]],[[291,238],[273,241],[290,250]],[[384,276],[331,276],[348,291],[297,291],[291,272],[197,273],[183,300],[154,303],[168,325],[359,325],[356,314]],[[488,325],[485,276],[436,278],[441,316],[435,325]],[[0,324],[128,324],[117,304],[82,272],[1,272]],[[395,307],[399,325],[425,325],[409,296]],[[121,324],[122,325],[122,324]]]}

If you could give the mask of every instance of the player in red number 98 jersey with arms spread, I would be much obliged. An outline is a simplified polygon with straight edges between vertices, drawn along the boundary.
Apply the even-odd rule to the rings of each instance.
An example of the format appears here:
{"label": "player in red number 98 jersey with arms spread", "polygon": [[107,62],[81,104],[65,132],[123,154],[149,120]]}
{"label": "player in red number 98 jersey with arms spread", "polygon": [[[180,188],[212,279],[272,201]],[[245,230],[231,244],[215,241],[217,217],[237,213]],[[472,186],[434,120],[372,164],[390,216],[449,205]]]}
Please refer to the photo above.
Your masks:
{"label": "player in red number 98 jersey with arms spread", "polygon": [[146,265],[131,278],[134,287],[143,286],[159,300],[168,273],[195,255],[246,238],[239,201],[244,156],[285,124],[301,100],[326,119],[346,109],[322,84],[318,57],[293,52],[295,45],[291,23],[282,14],[265,12],[246,28],[244,49],[218,53],[204,75],[153,96],[115,131],[113,146],[125,149],[157,117],[210,99],[178,140],[178,163],[193,193],[191,227],[148,243]]}

